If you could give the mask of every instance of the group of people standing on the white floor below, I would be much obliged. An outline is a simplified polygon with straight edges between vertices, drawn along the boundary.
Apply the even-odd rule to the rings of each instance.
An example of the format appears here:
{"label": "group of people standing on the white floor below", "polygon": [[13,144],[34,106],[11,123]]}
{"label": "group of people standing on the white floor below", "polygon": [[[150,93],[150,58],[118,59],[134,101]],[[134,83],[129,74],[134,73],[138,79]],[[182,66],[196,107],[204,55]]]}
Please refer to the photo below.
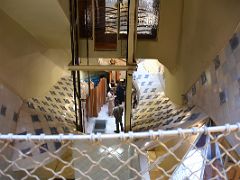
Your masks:
{"label": "group of people standing on the white floor below", "polygon": [[[114,92],[115,89],[115,92]],[[116,93],[116,95],[115,95]],[[123,107],[122,102],[124,102],[124,87],[120,82],[117,82],[116,88],[112,85],[110,90],[107,94],[108,96],[108,115],[114,116],[115,123],[116,123],[116,130],[114,132],[119,133],[121,127],[121,131],[123,131],[123,123],[122,123],[122,116],[123,116]]]}

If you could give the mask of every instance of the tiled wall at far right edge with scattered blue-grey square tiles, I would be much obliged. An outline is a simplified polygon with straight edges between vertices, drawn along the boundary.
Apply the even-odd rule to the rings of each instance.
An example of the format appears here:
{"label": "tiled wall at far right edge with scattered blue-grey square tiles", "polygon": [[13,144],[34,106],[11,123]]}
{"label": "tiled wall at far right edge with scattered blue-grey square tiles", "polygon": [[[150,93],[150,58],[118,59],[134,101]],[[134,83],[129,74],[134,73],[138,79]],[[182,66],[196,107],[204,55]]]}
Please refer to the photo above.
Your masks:
{"label": "tiled wall at far right edge with scattered blue-grey square tiles", "polygon": [[213,59],[187,93],[218,125],[240,122],[240,33]]}

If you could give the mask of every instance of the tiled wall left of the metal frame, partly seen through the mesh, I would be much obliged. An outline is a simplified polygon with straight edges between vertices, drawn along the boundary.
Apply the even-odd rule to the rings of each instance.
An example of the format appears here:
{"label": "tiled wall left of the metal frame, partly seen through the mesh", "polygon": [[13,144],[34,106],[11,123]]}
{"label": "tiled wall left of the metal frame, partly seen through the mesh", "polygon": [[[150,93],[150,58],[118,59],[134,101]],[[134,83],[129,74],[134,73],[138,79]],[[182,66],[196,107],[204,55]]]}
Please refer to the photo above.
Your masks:
{"label": "tiled wall left of the metal frame, partly seen through the mesh", "polygon": [[[73,101],[72,78],[60,78],[59,81],[42,97],[22,101],[4,86],[0,86],[0,133],[14,134],[59,134],[76,133]],[[38,148],[31,142],[18,141],[14,146],[29,157],[42,159],[45,150],[55,151],[62,147],[58,141],[42,143]],[[43,148],[41,148],[43,147]],[[61,153],[64,151],[61,151]],[[18,152],[3,152],[10,159],[19,156]],[[0,158],[1,161],[1,158]],[[0,166],[4,166],[0,163]],[[28,158],[18,161],[24,168],[33,168]]]}

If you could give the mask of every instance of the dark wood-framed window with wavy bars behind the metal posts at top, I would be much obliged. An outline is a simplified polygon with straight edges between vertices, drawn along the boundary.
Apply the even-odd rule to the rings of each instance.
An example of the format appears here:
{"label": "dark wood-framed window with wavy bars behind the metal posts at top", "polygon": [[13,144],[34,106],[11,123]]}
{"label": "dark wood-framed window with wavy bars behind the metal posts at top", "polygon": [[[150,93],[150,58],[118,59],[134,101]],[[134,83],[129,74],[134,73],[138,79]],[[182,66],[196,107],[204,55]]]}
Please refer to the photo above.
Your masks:
{"label": "dark wood-framed window with wavy bars behind the metal posts at top", "polygon": [[[138,39],[155,39],[159,21],[159,0],[139,0],[138,4]],[[119,38],[127,38],[128,0],[96,0],[95,1],[95,38],[96,42],[116,42]],[[120,16],[118,17],[118,11]],[[80,37],[92,37],[92,4],[91,1],[79,1]],[[119,26],[119,28],[118,28]],[[113,46],[112,44],[112,47]],[[111,48],[111,47],[107,47]]]}

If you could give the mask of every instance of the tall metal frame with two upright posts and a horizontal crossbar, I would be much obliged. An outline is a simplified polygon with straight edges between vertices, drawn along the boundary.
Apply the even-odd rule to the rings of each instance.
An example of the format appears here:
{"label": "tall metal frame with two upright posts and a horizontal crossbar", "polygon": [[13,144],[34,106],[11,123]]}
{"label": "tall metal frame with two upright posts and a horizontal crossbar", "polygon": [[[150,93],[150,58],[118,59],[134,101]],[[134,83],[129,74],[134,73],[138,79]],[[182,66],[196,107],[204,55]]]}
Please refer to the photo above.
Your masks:
{"label": "tall metal frame with two upright posts and a horizontal crossbar", "polygon": [[[72,45],[72,64],[68,67],[68,70],[72,71],[73,74],[73,85],[74,85],[74,100],[75,100],[75,115],[76,115],[76,126],[81,132],[84,132],[84,120],[82,118],[81,108],[81,86],[80,86],[80,70],[89,71],[126,71],[126,99],[125,99],[125,132],[131,130],[131,114],[132,114],[132,73],[136,71],[136,40],[137,40],[137,20],[138,20],[138,0],[128,1],[128,42],[127,42],[127,65],[126,66],[101,66],[101,65],[90,65],[89,64],[89,52],[87,48],[87,65],[80,65],[79,62],[79,13],[76,10],[78,7],[77,0],[70,0],[70,15],[71,15],[71,45]],[[87,25],[88,26],[88,25]],[[94,33],[93,33],[94,34]],[[88,47],[88,38],[87,38]],[[90,88],[89,88],[90,89]]]}

